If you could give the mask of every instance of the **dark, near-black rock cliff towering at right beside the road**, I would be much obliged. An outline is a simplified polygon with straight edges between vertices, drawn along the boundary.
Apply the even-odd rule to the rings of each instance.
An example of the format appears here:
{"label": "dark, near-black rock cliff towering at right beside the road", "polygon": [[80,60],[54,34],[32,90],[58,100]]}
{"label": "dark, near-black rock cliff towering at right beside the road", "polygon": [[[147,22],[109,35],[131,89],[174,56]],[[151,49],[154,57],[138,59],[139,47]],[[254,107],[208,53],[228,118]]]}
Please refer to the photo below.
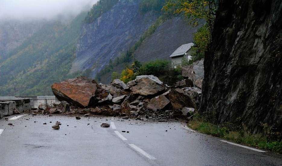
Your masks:
{"label": "dark, near-black rock cliff towering at right beside the road", "polygon": [[282,1],[219,3],[204,60],[201,113],[213,122],[282,131]]}

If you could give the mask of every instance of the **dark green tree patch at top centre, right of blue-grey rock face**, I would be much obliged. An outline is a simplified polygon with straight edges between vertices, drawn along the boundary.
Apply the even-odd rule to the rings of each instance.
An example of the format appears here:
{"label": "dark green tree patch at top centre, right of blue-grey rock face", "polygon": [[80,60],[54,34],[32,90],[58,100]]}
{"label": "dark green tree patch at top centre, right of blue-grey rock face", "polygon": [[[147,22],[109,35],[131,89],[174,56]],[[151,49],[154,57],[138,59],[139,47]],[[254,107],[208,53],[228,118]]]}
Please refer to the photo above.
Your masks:
{"label": "dark green tree patch at top centre, right of blue-grey rock face", "polygon": [[149,11],[160,12],[164,4],[165,0],[142,0],[139,5],[139,10],[143,14]]}

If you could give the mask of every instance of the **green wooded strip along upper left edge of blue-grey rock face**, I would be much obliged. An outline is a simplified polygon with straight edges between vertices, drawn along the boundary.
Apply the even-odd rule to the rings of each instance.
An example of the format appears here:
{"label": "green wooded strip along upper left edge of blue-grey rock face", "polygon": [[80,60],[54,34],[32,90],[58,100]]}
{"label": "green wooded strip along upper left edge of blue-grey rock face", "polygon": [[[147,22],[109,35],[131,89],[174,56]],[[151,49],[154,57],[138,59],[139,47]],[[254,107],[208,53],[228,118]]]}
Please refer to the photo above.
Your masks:
{"label": "green wooded strip along upper left edge of blue-grey rock face", "polygon": [[119,0],[99,0],[92,6],[84,21],[88,24],[96,21],[97,18],[109,11],[117,2],[119,2]]}

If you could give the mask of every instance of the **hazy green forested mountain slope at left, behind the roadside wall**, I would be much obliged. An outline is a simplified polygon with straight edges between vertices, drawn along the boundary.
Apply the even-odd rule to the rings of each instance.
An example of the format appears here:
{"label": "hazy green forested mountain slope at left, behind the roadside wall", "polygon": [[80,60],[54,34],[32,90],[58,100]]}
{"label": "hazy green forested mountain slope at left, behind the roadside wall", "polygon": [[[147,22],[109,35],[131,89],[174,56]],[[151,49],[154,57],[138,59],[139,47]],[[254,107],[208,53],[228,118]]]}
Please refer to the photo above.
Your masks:
{"label": "hazy green forested mountain slope at left, behind the roadside wall", "polygon": [[9,58],[0,62],[0,96],[51,95],[54,82],[87,74],[69,74],[85,15],[68,24],[48,23],[11,51]]}

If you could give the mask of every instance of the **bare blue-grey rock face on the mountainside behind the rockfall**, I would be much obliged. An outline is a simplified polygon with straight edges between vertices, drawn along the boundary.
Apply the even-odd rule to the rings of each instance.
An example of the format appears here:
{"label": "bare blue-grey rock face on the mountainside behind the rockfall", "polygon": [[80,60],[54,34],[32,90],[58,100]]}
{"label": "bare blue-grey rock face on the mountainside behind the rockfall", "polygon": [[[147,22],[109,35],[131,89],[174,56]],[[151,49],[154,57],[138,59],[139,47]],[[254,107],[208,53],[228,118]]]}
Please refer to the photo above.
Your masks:
{"label": "bare blue-grey rock face on the mountainside behind the rockfall", "polygon": [[139,3],[121,0],[93,23],[83,25],[71,72],[92,69],[94,77],[110,59],[139,40],[157,18],[153,13],[142,15]]}

